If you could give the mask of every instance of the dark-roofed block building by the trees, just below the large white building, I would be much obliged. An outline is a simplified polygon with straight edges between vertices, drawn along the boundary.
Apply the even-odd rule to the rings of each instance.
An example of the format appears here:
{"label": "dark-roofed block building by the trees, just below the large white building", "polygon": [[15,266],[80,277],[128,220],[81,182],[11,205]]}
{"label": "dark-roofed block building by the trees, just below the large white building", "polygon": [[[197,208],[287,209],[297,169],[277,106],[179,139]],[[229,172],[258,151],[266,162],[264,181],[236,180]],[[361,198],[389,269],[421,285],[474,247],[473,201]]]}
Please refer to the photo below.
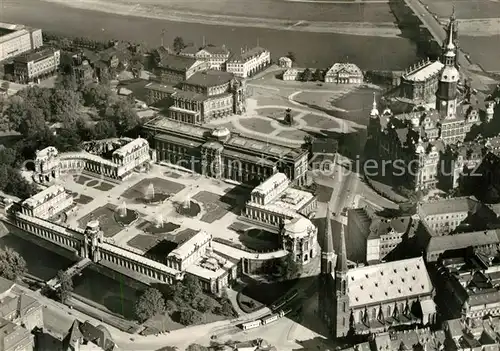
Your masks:
{"label": "dark-roofed block building by the trees, just below the large white building", "polygon": [[55,49],[42,49],[14,58],[14,77],[27,83],[53,75],[61,63],[61,52]]}

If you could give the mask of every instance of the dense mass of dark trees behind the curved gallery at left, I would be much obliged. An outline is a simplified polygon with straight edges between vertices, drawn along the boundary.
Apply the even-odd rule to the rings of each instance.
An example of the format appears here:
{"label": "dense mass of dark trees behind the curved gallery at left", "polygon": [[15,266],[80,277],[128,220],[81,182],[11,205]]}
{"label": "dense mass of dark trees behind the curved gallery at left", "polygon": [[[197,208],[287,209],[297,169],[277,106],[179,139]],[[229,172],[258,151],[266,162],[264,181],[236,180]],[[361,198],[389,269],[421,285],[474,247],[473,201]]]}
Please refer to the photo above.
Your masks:
{"label": "dense mass of dark trees behind the curved gallery at left", "polygon": [[[33,159],[47,145],[62,152],[80,150],[82,141],[136,137],[140,119],[130,99],[119,99],[108,84],[79,86],[72,75],[62,75],[54,88],[28,87],[4,101],[0,125],[21,133],[11,148],[0,150],[0,190],[22,199],[36,188],[16,167]],[[98,121],[88,111],[96,111]],[[57,128],[51,128],[57,123]]]}

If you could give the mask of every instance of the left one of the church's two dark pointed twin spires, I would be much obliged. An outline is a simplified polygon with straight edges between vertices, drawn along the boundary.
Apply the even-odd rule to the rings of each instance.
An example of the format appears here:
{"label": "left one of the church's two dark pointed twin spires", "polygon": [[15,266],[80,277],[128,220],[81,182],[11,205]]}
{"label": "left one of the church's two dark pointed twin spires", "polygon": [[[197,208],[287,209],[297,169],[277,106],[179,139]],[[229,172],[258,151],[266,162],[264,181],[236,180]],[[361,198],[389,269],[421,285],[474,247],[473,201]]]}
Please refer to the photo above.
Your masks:
{"label": "left one of the church's two dark pointed twin spires", "polygon": [[321,272],[319,276],[318,289],[318,314],[325,321],[328,329],[332,328],[334,320],[332,304],[334,300],[334,278],[333,270],[335,264],[335,252],[333,249],[332,218],[330,206],[326,209],[326,224],[323,233],[323,246],[321,251]]}

